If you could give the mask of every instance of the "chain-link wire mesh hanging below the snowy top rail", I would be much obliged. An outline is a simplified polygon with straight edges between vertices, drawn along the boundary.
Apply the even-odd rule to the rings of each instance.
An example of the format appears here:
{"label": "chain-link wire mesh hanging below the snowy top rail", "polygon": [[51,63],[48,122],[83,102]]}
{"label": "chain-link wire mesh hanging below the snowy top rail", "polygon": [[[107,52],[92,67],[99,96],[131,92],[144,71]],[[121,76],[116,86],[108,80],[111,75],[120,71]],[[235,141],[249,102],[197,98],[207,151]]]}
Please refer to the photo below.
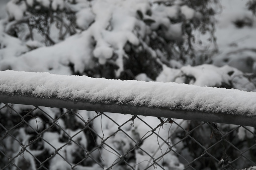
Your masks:
{"label": "chain-link wire mesh hanging below the snowy top rail", "polygon": [[256,169],[254,127],[8,103],[0,116],[1,169]]}

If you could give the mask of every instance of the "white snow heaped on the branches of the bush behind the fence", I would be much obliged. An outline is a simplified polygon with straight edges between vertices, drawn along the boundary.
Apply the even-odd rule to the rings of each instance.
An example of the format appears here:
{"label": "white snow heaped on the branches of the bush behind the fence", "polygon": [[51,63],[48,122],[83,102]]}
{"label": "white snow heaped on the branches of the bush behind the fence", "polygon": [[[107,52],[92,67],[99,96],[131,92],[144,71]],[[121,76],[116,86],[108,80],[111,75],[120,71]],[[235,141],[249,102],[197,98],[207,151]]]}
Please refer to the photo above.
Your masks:
{"label": "white snow heaped on the branches of the bush behind the fence", "polygon": [[[101,65],[106,64],[107,61],[114,60],[115,64],[119,67],[116,70],[116,76],[118,77],[124,71],[123,58],[127,57],[124,47],[127,43],[135,47],[141,45],[152,57],[157,57],[156,52],[148,46],[148,36],[152,33],[151,29],[154,30],[158,29],[159,26],[163,26],[162,32],[166,40],[183,41],[182,24],[172,24],[169,18],[178,18],[181,14],[187,18],[194,16],[191,16],[193,13],[192,9],[187,6],[181,7],[179,3],[173,7],[165,7],[163,5],[151,7],[150,3],[146,0],[94,1],[92,2],[92,7],[90,7],[88,2],[85,3],[83,1],[77,1],[76,4],[72,4],[71,1],[64,3],[62,0],[54,0],[51,4],[49,0],[37,0],[37,2],[46,8],[51,6],[52,10],[66,8],[76,12],[76,24],[83,31],[80,34],[65,39],[65,42],[61,43],[58,39],[59,34],[56,32],[57,23],[53,23],[50,27],[50,37],[57,42],[56,45],[38,48],[41,46],[30,47],[31,42],[29,42],[25,47],[32,51],[26,51],[27,53],[25,54],[24,51],[15,48],[16,50],[13,51],[19,52],[19,58],[16,58],[17,55],[14,56],[13,54],[5,55],[8,58],[6,57],[7,59],[2,60],[0,70],[12,69],[71,75],[72,71],[68,67],[69,63],[74,65],[75,72],[82,73],[84,68],[90,69],[90,66],[94,65],[92,60],[96,58]],[[31,6],[33,2],[28,1],[27,3]],[[18,11],[14,10],[17,6],[14,1],[11,1],[8,6],[10,6],[9,19],[14,18],[15,15],[24,18],[25,8],[19,7],[19,10],[22,10],[20,12],[22,13],[21,15],[18,14]],[[155,21],[155,23],[147,26],[143,19],[138,19],[138,11],[141,12],[143,19],[150,19]],[[152,15],[148,15],[149,12]],[[19,20],[20,18],[14,19]],[[27,32],[23,34],[23,38],[28,37],[30,34],[28,28],[25,30]],[[32,32],[35,34],[34,38],[36,41],[44,41],[44,39],[36,36],[38,33],[35,33],[35,30],[32,30]],[[83,41],[78,38],[79,36],[81,36]],[[21,37],[22,35],[19,35],[19,38]],[[95,43],[96,46],[94,47]],[[138,47],[138,51],[141,50],[141,46],[140,48]],[[43,53],[45,53],[46,57],[42,56]],[[159,51],[158,55],[160,55]],[[40,61],[39,63],[42,64],[38,66],[35,61]]]}

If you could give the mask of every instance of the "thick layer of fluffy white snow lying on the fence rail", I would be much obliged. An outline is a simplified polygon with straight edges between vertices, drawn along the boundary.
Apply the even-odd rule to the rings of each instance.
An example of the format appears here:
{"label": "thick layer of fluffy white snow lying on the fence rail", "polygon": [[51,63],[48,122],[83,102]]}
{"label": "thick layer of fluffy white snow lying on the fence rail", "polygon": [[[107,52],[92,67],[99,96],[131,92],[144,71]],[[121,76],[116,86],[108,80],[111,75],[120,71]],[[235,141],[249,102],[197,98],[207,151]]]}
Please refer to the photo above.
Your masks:
{"label": "thick layer of fluffy white snow lying on the fence rail", "polygon": [[0,93],[247,116],[256,112],[255,92],[11,70],[0,72]]}

